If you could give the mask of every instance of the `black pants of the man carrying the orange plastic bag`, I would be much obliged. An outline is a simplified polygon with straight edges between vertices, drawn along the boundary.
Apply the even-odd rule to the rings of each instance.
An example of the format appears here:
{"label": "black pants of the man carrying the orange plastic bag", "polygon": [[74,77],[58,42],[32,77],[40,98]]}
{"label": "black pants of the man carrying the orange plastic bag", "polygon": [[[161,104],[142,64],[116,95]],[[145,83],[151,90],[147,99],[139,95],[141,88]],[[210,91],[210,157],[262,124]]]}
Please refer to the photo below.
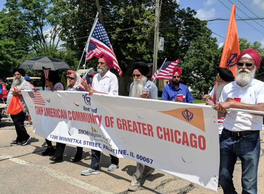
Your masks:
{"label": "black pants of the man carrying the orange plastic bag", "polygon": [[20,113],[16,115],[10,115],[10,116],[11,116],[11,119],[13,120],[13,123],[16,128],[16,132],[17,132],[16,141],[17,142],[27,141],[29,139],[29,134],[27,134],[27,130],[24,127],[24,121],[26,118],[25,113],[21,111]]}

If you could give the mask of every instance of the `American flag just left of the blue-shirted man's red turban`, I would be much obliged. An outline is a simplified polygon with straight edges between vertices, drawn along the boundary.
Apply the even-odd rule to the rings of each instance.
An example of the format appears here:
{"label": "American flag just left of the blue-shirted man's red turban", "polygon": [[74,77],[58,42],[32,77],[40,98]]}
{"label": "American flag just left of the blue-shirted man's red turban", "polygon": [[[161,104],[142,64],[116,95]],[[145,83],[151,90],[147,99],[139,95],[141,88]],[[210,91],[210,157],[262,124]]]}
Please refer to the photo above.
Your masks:
{"label": "American flag just left of the blue-shirted man's red turban", "polygon": [[179,63],[179,59],[176,61],[166,61],[162,67],[160,67],[151,77],[154,79],[172,80],[172,69]]}

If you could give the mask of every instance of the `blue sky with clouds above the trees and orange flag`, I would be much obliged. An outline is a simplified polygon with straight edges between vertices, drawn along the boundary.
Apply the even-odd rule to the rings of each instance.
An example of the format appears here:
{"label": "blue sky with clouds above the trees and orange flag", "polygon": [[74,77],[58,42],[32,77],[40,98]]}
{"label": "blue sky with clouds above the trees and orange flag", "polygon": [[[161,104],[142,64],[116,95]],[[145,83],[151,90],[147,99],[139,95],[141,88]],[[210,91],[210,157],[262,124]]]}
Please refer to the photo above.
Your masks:
{"label": "blue sky with clouds above the trees and orange flag", "polygon": [[[4,8],[5,2],[5,0],[0,1],[0,10]],[[236,14],[243,19],[248,17],[264,18],[264,0],[177,0],[177,2],[180,4],[181,8],[191,7],[192,9],[194,9],[197,12],[196,17],[200,18],[201,20],[210,20],[213,18],[229,19],[231,11],[228,10],[228,8],[231,9],[232,3],[234,3],[237,7]],[[225,7],[221,2],[228,8]],[[257,16],[255,16],[249,10]],[[239,19],[238,16],[236,16],[236,19]],[[241,38],[246,38],[252,43],[254,41],[259,41],[262,43],[262,48],[264,48],[264,19],[263,21],[255,21],[248,20],[248,24],[244,21],[237,21],[238,36]],[[263,34],[254,29],[249,24],[257,30],[261,31]],[[228,21],[210,21],[208,22],[207,26],[214,33],[219,34],[220,36],[225,38],[227,33]],[[48,30],[48,26],[46,30]],[[212,34],[212,36],[217,38],[217,44],[219,46],[221,46],[225,41],[224,38],[221,38],[218,35]]]}

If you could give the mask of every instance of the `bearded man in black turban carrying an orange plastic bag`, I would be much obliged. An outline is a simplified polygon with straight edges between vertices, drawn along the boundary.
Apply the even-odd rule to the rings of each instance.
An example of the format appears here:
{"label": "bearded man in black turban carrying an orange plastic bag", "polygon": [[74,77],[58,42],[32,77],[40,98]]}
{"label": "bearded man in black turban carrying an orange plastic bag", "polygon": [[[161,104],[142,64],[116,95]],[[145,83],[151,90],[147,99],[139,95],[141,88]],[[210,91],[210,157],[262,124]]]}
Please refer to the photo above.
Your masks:
{"label": "bearded man in black turban carrying an orange plastic bag", "polygon": [[[11,146],[16,146],[16,145],[24,146],[29,141],[30,135],[27,134],[26,128],[24,127],[27,106],[22,96],[21,90],[31,90],[32,88],[31,88],[31,85],[26,80],[23,79],[23,76],[25,76],[25,71],[23,69],[15,68],[13,69],[13,73],[14,73],[13,83],[11,85],[10,92],[7,95],[7,107],[13,96],[19,96],[22,102],[22,105],[24,106],[24,109],[16,115],[10,114],[11,119],[13,120],[13,123],[16,128],[16,133],[17,133],[16,140],[10,143],[10,145]],[[18,91],[15,91],[14,87],[17,87]]]}

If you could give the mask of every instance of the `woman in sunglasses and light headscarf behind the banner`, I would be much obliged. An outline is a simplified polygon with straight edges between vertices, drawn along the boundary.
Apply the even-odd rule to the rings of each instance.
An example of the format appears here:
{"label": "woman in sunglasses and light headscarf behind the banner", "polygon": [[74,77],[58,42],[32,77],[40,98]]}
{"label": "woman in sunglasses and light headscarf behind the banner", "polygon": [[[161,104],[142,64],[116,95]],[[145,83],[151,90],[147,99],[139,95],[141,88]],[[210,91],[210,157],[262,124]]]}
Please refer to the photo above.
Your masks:
{"label": "woman in sunglasses and light headscarf behind the banner", "polygon": [[[75,71],[68,70],[68,72],[69,71],[70,71],[70,75],[69,75],[70,84],[66,88],[66,91],[84,92],[85,91],[84,88],[80,85],[81,76],[78,73],[76,73]],[[65,149],[65,146],[66,146],[66,144],[64,144],[64,143],[57,143],[56,150],[54,153],[54,157],[50,157],[50,160],[52,160],[54,162],[62,162],[62,157],[63,157],[63,152]],[[83,148],[77,146],[76,154],[74,156],[74,159],[72,160],[73,162],[78,162],[82,159],[82,151],[83,151]]]}

